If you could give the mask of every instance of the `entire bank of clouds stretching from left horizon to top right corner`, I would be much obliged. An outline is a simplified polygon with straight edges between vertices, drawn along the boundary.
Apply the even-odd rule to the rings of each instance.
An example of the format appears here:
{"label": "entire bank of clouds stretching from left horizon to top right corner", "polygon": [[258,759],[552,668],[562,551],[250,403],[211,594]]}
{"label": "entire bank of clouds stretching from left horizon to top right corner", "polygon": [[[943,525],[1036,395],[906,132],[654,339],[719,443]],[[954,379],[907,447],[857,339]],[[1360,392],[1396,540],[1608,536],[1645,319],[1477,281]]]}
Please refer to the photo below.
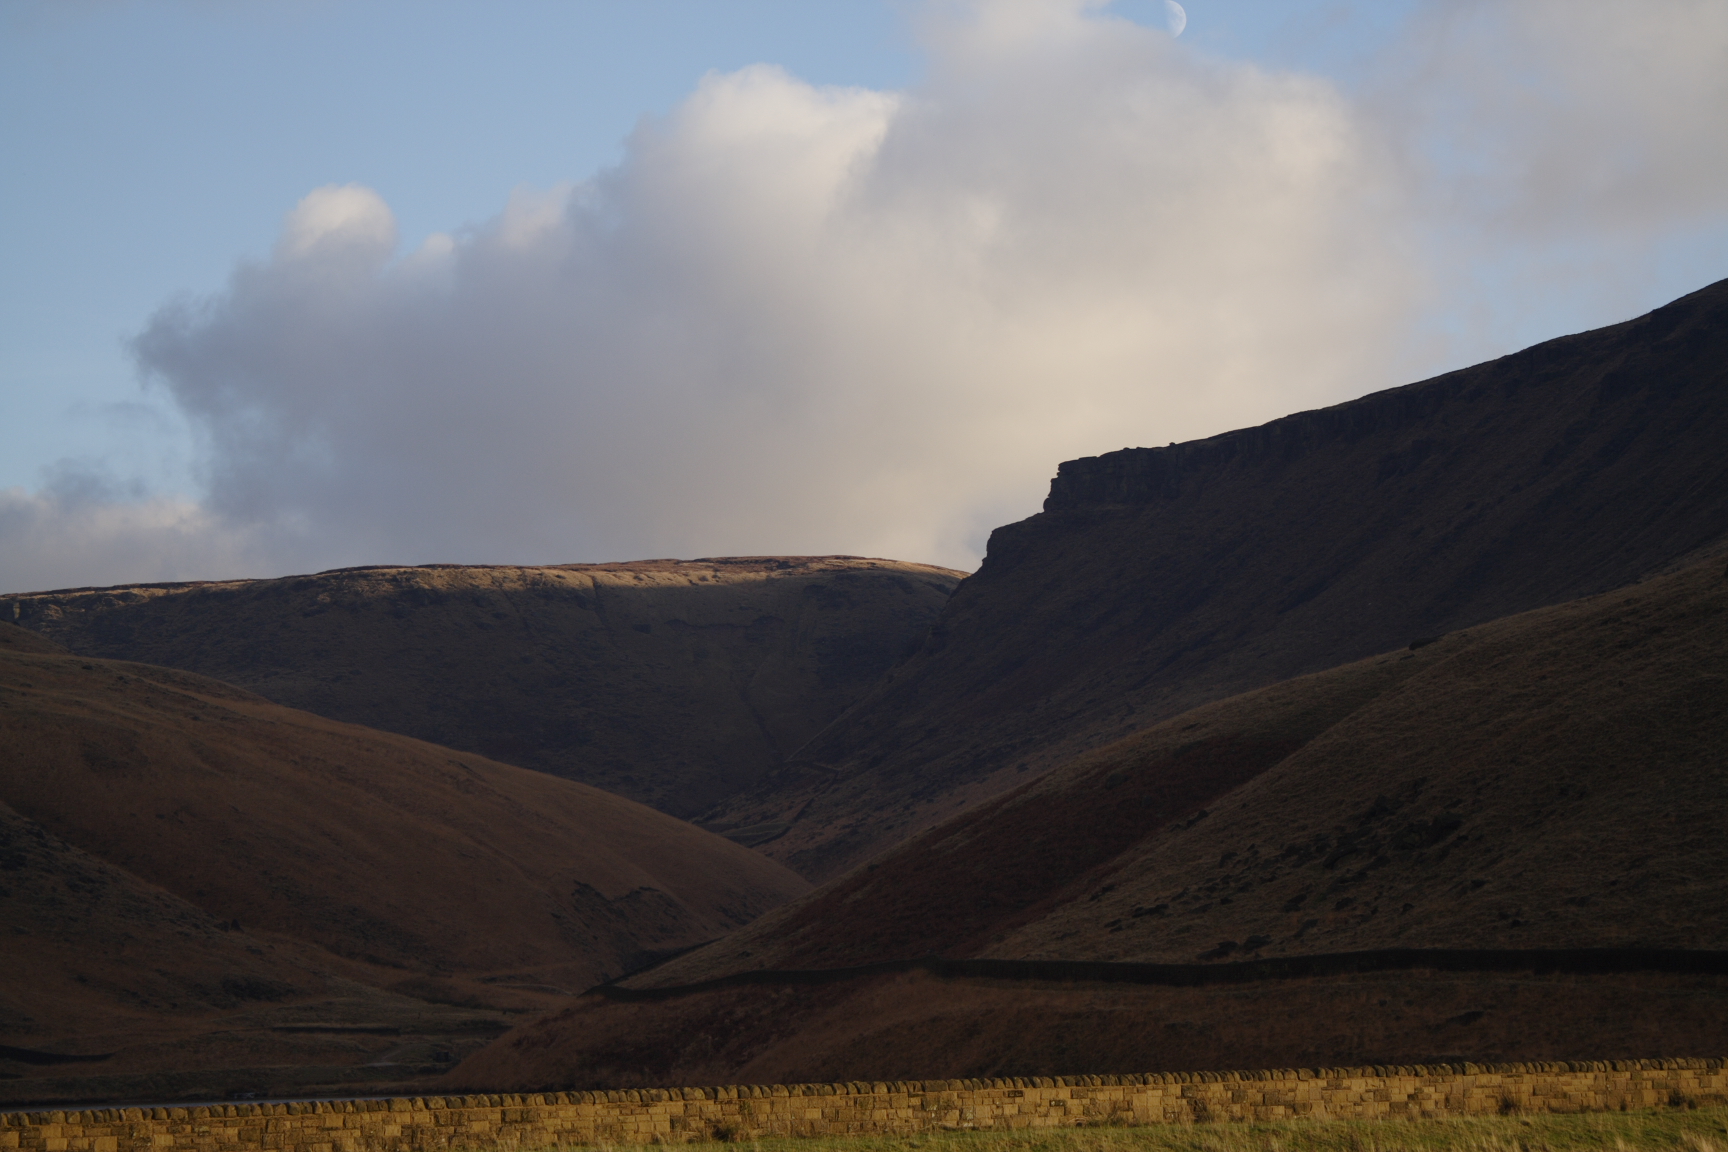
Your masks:
{"label": "entire bank of clouds stretching from left horizon to top right corner", "polygon": [[[1083,3],[938,7],[914,90],[712,74],[619,168],[406,254],[377,193],[313,190],[268,261],[137,337],[204,437],[202,503],[57,529],[54,494],[0,494],[0,587],[971,567],[1061,459],[1436,366],[1484,263],[1721,228],[1728,16],[1623,12],[1446,3],[1346,97]],[[52,546],[19,565],[22,539]]]}

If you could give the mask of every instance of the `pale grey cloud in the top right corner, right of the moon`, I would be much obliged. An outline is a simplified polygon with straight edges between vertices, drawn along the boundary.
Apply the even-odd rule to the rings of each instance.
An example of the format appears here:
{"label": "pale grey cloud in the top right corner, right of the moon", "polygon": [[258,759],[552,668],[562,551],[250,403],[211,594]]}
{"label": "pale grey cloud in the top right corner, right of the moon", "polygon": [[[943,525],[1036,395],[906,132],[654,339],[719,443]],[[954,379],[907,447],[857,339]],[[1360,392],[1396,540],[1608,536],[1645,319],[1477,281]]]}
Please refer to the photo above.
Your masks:
{"label": "pale grey cloud in the top right corner, right of the moon", "polygon": [[1448,190],[1479,225],[1528,242],[1723,216],[1719,0],[1453,0],[1393,66],[1386,86],[1419,131],[1400,128],[1460,161]]}

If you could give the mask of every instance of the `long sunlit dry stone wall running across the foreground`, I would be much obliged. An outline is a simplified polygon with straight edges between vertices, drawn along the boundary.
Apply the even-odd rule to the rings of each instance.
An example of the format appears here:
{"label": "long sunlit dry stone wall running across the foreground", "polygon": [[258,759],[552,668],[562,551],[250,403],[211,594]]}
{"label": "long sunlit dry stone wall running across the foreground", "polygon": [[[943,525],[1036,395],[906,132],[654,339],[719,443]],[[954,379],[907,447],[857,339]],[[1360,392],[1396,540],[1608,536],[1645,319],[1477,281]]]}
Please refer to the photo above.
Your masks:
{"label": "long sunlit dry stone wall running across the foreground", "polygon": [[1728,1102],[1728,1060],[1439,1064],[0,1114],[21,1152],[422,1152]]}

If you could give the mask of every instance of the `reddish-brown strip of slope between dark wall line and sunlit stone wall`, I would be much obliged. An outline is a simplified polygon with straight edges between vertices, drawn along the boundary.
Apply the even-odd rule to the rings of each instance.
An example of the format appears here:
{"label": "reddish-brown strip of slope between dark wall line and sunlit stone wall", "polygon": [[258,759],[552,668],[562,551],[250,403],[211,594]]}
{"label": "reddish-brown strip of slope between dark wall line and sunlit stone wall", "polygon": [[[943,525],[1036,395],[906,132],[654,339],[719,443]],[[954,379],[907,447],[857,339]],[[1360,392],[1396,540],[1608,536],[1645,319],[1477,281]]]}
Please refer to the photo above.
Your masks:
{"label": "reddish-brown strip of slope between dark wall line and sunlit stone wall", "polygon": [[1217,1067],[1645,1059],[1723,1045],[1699,976],[1381,972],[1146,988],[912,972],[577,1007],[499,1036],[453,1092],[1109,1076]]}

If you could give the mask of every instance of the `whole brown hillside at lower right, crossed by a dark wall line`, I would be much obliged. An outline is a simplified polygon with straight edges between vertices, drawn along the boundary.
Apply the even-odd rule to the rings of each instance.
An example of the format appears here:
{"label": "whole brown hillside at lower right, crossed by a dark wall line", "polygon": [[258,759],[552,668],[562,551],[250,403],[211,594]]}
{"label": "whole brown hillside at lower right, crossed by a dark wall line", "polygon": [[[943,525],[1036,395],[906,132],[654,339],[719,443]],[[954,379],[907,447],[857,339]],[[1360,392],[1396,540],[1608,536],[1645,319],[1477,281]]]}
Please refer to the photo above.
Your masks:
{"label": "whole brown hillside at lower right, crossed by a dark wall line", "polygon": [[[591,997],[463,1083],[727,1083],[1714,1050],[1728,967],[1721,560],[1191,710],[632,978],[930,953],[1223,965],[1619,948],[1630,971],[1144,986],[859,974]],[[1654,964],[1654,960],[1652,960]],[[1706,965],[1709,969],[1709,965]]]}

